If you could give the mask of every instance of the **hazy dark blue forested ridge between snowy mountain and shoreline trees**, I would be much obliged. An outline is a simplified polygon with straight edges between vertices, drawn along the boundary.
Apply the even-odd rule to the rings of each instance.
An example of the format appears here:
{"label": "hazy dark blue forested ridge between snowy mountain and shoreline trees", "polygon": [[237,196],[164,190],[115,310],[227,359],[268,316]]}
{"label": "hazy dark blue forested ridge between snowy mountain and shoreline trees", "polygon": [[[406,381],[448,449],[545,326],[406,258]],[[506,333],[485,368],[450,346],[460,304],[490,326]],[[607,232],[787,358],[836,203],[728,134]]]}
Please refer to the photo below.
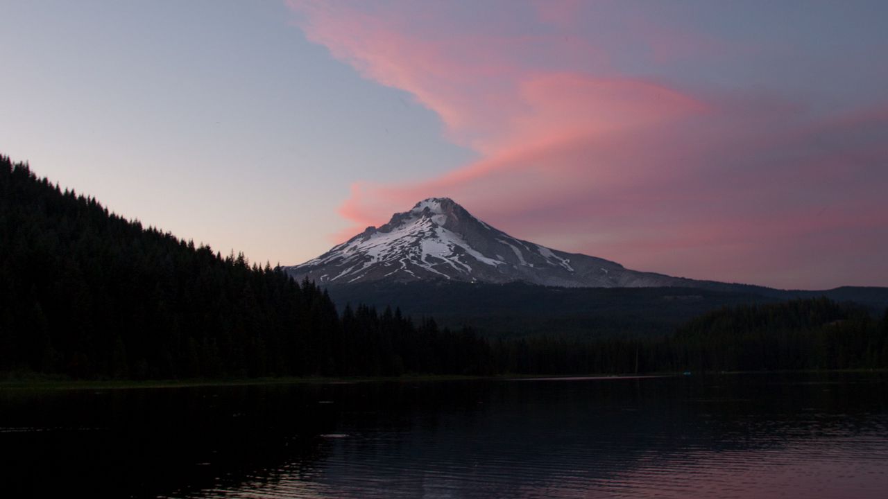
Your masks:
{"label": "hazy dark blue forested ridge between snowy mountain and shoreline trees", "polygon": [[443,326],[471,324],[491,339],[552,333],[572,339],[666,336],[687,321],[723,307],[798,298],[850,301],[873,313],[882,313],[888,306],[888,288],[799,291],[736,284],[725,284],[725,289],[555,288],[522,282],[420,281],[365,282],[327,289],[337,305],[363,303],[380,309],[397,305],[408,315],[432,316]]}

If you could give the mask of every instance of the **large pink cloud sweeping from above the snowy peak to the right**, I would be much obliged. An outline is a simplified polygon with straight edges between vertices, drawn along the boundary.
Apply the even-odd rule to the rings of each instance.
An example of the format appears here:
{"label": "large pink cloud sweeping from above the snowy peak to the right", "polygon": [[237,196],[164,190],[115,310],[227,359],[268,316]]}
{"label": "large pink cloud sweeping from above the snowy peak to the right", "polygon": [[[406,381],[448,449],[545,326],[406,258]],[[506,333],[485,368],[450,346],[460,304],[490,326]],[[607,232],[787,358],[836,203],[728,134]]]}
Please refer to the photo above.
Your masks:
{"label": "large pink cloud sweeping from above the snowy peak to the right", "polygon": [[[620,75],[588,41],[510,31],[510,13],[507,28],[465,31],[440,4],[290,5],[313,42],[410,92],[448,139],[482,155],[423,182],[353,183],[340,214],[355,226],[339,240],[445,195],[518,237],[630,268],[778,287],[888,283],[877,251],[888,247],[888,107],[817,117],[766,94],[694,95]],[[567,26],[581,7],[521,15]],[[654,59],[702,53],[694,36],[630,24]]]}

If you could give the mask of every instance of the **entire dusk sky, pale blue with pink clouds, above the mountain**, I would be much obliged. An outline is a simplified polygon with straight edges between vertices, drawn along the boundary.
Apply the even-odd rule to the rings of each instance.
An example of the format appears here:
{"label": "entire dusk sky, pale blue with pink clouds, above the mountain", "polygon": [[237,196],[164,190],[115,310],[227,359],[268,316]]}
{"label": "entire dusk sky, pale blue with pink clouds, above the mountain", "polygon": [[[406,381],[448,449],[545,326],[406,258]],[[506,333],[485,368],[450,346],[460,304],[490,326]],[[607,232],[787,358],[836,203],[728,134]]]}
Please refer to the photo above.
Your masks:
{"label": "entire dusk sky, pale blue with pink clouds, above the mountain", "polygon": [[294,265],[426,197],[631,269],[888,286],[888,3],[0,4],[0,154]]}

